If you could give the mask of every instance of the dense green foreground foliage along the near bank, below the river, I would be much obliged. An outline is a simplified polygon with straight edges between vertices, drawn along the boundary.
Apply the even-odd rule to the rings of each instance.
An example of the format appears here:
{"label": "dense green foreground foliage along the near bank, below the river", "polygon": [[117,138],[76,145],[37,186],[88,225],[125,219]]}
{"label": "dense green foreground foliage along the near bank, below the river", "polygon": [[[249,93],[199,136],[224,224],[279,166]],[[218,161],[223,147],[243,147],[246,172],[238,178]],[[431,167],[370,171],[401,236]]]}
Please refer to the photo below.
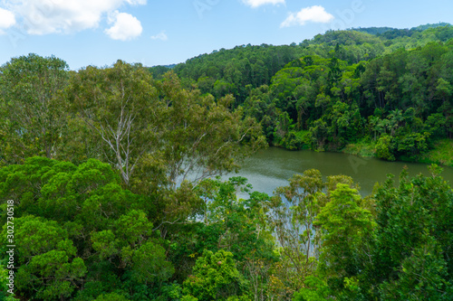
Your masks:
{"label": "dense green foreground foliage along the near bank, below the river", "polygon": [[439,167],[431,173],[403,172],[396,188],[390,177],[367,198],[351,178],[324,181],[315,170],[294,175],[273,197],[251,193],[245,178],[205,180],[195,196],[182,195],[198,198],[194,213],[163,228],[159,198],[122,188],[110,165],[31,157],[0,169],[2,218],[14,200],[16,294],[448,300],[453,190]]}

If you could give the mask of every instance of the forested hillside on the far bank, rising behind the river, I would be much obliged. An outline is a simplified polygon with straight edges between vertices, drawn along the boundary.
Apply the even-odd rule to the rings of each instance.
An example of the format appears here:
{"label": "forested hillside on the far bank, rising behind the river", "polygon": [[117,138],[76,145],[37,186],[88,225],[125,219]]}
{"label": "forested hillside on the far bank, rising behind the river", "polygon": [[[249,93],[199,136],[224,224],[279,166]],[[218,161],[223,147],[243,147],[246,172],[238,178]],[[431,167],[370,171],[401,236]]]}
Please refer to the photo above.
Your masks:
{"label": "forested hillside on the far bank, rising behind the river", "polygon": [[174,71],[201,93],[232,94],[270,145],[452,165],[452,38],[449,24],[331,31],[222,49]]}

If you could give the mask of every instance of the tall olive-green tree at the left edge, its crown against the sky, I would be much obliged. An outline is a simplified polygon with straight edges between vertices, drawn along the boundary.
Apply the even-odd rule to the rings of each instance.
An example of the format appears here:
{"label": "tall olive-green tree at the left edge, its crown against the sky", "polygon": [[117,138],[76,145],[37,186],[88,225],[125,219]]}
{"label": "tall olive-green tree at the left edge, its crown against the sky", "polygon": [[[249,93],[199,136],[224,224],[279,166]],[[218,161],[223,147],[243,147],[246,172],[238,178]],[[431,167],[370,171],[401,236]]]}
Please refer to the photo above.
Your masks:
{"label": "tall olive-green tree at the left edge, its crown against the sky", "polygon": [[[0,124],[4,143],[0,158],[23,162],[28,156],[53,158],[62,144],[66,114],[59,91],[67,83],[69,67],[55,57],[36,54],[14,58],[0,69]],[[2,135],[0,135],[2,136]]]}

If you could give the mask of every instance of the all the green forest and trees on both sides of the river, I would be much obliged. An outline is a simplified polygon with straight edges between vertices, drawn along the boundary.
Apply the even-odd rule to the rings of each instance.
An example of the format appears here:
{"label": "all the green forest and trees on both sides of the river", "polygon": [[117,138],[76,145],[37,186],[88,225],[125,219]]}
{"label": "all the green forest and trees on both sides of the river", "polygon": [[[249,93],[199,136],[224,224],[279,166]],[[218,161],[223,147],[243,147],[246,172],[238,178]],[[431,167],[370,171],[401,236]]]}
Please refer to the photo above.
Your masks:
{"label": "all the green forest and trees on both sides of the river", "polygon": [[217,177],[269,144],[451,165],[442,25],[238,46],[171,71],[5,62],[0,299],[451,300],[438,165],[368,196],[316,169],[272,195]]}

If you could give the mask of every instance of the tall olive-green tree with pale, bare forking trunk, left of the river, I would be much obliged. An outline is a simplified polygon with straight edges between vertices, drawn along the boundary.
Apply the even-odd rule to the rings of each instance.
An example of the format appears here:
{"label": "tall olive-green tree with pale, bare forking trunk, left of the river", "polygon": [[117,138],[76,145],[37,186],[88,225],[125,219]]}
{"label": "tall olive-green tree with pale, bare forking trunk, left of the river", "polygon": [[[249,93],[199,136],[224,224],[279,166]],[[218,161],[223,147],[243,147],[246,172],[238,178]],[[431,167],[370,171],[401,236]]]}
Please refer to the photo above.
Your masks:
{"label": "tall olive-green tree with pale, bare forking trunk, left of the river", "polygon": [[161,103],[149,72],[123,61],[90,66],[74,74],[66,95],[98,136],[104,160],[129,184],[142,156],[159,149]]}

